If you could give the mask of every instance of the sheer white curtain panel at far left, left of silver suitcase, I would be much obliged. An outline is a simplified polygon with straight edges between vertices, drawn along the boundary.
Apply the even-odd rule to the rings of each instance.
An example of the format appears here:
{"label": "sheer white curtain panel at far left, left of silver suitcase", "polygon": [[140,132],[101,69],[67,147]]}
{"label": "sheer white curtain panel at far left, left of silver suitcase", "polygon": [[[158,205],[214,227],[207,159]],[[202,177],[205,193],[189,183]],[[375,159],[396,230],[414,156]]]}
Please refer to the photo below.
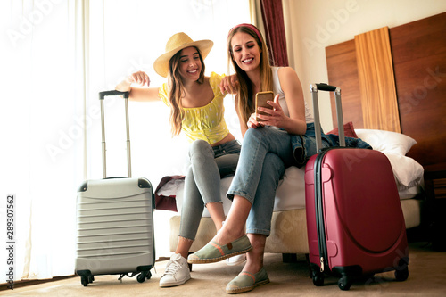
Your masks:
{"label": "sheer white curtain panel at far left, left of silver suitcase", "polygon": [[[15,194],[16,200],[14,276],[72,274],[75,185],[83,178],[84,167],[84,131],[77,119],[84,100],[77,86],[83,73],[76,56],[76,5],[74,1],[1,5],[2,33],[6,33],[1,54],[5,65],[1,194],[2,198]],[[5,220],[1,221],[4,226]]]}

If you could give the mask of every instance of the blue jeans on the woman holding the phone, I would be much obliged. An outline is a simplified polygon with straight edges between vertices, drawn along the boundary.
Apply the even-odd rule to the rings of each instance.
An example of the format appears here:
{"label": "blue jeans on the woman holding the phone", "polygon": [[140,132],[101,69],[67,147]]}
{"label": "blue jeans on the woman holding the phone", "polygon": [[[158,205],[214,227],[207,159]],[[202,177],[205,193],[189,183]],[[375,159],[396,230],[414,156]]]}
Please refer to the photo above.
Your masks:
{"label": "blue jeans on the woman holding the phone", "polygon": [[247,233],[269,235],[278,181],[293,164],[291,136],[285,130],[263,127],[246,131],[227,197],[239,195],[252,203]]}

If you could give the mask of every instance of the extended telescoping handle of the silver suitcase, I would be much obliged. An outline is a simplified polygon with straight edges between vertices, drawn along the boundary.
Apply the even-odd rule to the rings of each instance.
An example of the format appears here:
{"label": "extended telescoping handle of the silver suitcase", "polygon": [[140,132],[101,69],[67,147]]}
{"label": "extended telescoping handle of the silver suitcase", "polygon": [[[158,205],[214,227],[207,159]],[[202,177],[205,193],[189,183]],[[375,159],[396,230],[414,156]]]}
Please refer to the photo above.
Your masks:
{"label": "extended telescoping handle of the silver suitcase", "polygon": [[126,130],[127,130],[127,170],[128,177],[132,177],[132,165],[130,160],[130,129],[128,125],[128,92],[120,92],[120,91],[105,91],[99,93],[99,100],[101,101],[101,128],[103,134],[103,178],[107,177],[107,168],[106,168],[106,150],[105,150],[105,124],[104,124],[104,115],[103,115],[103,100],[106,96],[112,95],[121,95],[125,99],[126,105]]}

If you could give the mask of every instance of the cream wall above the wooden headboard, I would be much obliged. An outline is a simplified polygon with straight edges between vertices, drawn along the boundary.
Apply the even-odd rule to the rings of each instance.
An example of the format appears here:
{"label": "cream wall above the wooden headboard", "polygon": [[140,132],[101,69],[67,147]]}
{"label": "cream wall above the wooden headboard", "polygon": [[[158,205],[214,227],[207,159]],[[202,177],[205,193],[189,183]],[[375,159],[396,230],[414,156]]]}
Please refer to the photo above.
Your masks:
{"label": "cream wall above the wooden headboard", "polygon": [[[438,0],[283,0],[287,47],[292,66],[301,78],[305,99],[309,85],[326,82],[325,48],[355,35],[400,26],[410,21],[446,12],[446,1]],[[333,128],[329,96],[319,93],[322,127]]]}

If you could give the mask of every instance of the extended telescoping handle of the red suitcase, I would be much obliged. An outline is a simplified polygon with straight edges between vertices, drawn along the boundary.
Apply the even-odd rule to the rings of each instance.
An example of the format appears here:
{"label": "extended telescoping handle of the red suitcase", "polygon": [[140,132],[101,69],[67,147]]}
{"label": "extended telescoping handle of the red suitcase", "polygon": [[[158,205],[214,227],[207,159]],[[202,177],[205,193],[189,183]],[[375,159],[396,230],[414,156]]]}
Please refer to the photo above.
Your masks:
{"label": "extended telescoping handle of the red suitcase", "polygon": [[322,149],[322,136],[320,133],[320,117],[318,104],[318,90],[335,92],[336,118],[339,131],[339,144],[345,146],[345,135],[343,133],[343,105],[341,103],[341,88],[327,84],[310,84],[311,97],[313,99],[314,128],[316,132],[316,149],[319,152]]}

